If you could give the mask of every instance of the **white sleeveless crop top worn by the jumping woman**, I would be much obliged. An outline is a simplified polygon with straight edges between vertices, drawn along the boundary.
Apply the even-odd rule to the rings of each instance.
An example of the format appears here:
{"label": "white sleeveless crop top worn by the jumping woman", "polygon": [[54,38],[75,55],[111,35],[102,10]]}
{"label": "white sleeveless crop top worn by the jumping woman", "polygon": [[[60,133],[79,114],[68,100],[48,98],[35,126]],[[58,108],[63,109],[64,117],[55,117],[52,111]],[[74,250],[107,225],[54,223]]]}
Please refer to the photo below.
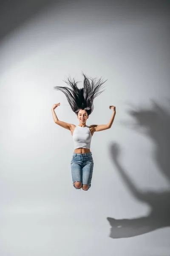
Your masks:
{"label": "white sleeveless crop top worn by the jumping woman", "polygon": [[88,148],[91,146],[91,131],[88,126],[80,127],[77,125],[73,132],[74,149]]}

